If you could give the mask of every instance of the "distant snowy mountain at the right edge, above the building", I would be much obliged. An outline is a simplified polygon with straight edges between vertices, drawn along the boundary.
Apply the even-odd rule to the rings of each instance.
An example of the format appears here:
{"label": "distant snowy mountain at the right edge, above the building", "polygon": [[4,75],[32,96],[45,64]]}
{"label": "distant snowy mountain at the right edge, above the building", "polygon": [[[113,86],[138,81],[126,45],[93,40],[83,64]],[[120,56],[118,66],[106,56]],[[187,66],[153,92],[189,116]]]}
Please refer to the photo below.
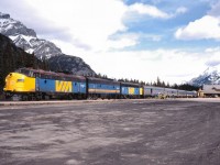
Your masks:
{"label": "distant snowy mountain at the right edge, above the building", "polygon": [[220,65],[208,67],[201,75],[189,81],[194,86],[219,85],[220,84]]}

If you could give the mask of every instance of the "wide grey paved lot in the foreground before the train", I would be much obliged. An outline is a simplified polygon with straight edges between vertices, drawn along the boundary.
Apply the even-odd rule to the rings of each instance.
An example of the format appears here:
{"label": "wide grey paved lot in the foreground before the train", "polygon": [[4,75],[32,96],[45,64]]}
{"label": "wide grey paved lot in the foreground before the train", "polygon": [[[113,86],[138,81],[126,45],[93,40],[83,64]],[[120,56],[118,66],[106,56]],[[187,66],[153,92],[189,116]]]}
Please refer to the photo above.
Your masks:
{"label": "wide grey paved lot in the foreground before the train", "polygon": [[219,165],[220,99],[0,107],[1,165]]}

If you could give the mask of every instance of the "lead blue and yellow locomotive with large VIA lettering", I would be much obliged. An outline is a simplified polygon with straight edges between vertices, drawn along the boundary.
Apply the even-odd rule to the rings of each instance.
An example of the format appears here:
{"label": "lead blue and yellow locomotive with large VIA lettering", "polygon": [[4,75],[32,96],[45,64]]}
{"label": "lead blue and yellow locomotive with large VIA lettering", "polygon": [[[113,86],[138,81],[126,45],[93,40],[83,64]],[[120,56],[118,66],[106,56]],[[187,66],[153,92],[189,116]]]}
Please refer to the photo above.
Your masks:
{"label": "lead blue and yellow locomotive with large VIA lettering", "polygon": [[86,98],[86,78],[41,69],[20,68],[6,78],[6,97],[22,100]]}

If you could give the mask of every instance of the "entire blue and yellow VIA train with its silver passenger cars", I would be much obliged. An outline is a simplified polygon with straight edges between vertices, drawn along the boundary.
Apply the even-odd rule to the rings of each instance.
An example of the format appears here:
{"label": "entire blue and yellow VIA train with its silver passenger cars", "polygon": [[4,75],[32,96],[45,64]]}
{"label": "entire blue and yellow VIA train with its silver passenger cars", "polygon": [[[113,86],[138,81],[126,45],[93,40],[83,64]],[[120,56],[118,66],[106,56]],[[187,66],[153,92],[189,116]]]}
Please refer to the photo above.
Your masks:
{"label": "entire blue and yellow VIA train with its silver passenger cars", "polygon": [[6,98],[16,96],[19,100],[197,97],[196,91],[143,86],[114,79],[68,75],[33,68],[19,68],[10,73],[6,77],[3,91]]}

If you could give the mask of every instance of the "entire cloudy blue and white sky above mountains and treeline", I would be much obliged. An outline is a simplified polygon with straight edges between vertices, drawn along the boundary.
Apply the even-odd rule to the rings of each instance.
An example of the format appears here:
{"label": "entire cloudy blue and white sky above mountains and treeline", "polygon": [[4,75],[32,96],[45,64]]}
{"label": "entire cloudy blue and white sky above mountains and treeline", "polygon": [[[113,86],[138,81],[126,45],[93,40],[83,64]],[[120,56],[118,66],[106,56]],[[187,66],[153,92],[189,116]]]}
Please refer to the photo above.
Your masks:
{"label": "entire cloudy blue and white sky above mountains and treeline", "polygon": [[1,0],[0,12],[110,78],[184,84],[220,64],[220,0]]}

